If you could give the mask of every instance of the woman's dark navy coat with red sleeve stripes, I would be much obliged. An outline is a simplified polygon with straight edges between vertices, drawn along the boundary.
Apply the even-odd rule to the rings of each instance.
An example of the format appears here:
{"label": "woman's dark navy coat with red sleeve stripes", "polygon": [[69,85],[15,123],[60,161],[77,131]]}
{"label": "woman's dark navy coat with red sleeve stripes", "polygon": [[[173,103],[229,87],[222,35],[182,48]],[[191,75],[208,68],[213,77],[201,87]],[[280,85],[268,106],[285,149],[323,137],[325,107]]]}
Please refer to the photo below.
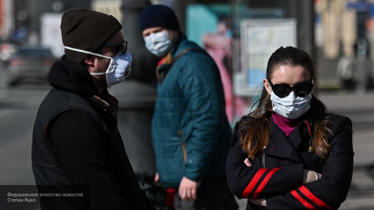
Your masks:
{"label": "woman's dark navy coat with red sleeve stripes", "polygon": [[[338,209],[347,197],[353,172],[352,122],[332,116],[328,135],[331,153],[322,161],[309,153],[313,142],[312,126],[318,114],[307,112],[289,137],[270,116],[270,140],[261,154],[247,167],[243,161],[239,126],[251,117],[243,117],[234,128],[226,171],[231,191],[238,198],[266,198],[267,208],[248,200],[246,209]],[[250,160],[250,159],[249,159]],[[322,178],[303,185],[303,169],[322,174]]]}

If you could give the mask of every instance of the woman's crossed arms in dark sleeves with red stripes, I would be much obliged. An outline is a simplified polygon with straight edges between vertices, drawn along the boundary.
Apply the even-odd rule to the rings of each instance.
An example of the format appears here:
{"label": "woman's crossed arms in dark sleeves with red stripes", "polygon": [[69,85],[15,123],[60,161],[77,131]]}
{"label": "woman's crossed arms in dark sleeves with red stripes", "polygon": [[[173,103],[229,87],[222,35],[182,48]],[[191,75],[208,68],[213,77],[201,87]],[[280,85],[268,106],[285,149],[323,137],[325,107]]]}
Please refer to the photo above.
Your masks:
{"label": "woman's crossed arms in dark sleeves with red stripes", "polygon": [[318,180],[314,172],[303,169],[303,164],[263,169],[244,163],[248,155],[234,135],[226,165],[230,189],[237,197],[249,198],[268,209],[337,209],[349,191],[354,153],[352,122],[339,117],[334,124],[331,154]]}

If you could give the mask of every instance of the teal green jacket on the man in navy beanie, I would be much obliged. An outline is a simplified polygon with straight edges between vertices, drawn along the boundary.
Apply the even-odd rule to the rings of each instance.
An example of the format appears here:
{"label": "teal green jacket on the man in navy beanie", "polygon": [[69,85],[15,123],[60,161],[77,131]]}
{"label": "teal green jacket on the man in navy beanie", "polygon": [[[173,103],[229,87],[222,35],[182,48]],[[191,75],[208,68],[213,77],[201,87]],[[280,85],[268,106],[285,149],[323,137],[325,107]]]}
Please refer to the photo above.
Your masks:
{"label": "teal green jacket on the man in navy beanie", "polygon": [[[172,58],[189,48],[200,47],[182,35]],[[159,72],[166,67],[160,66]],[[152,138],[160,184],[177,187],[183,176],[194,181],[225,176],[232,131],[213,59],[196,51],[184,54],[157,91]]]}

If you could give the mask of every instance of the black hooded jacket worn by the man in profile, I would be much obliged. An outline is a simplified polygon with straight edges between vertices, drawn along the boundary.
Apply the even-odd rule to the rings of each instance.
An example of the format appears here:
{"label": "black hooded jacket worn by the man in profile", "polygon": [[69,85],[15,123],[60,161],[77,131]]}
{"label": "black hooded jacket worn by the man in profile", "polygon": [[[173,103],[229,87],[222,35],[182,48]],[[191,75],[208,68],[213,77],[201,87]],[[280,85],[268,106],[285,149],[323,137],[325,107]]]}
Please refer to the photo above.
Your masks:
{"label": "black hooded jacket worn by the man in profile", "polygon": [[33,130],[32,168],[42,209],[154,209],[140,189],[117,129],[117,100],[87,69],[62,57]]}

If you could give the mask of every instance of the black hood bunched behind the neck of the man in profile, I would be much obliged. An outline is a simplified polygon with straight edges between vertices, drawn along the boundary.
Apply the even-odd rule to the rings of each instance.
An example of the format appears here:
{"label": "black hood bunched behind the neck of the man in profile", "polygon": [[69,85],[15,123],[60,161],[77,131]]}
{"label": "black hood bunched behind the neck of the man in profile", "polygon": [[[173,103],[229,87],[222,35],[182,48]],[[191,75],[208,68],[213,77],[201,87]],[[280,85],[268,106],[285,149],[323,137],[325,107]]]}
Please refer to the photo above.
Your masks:
{"label": "black hood bunched behind the neck of the man in profile", "polygon": [[99,95],[85,66],[62,56],[49,71],[47,82],[55,88],[79,95]]}

